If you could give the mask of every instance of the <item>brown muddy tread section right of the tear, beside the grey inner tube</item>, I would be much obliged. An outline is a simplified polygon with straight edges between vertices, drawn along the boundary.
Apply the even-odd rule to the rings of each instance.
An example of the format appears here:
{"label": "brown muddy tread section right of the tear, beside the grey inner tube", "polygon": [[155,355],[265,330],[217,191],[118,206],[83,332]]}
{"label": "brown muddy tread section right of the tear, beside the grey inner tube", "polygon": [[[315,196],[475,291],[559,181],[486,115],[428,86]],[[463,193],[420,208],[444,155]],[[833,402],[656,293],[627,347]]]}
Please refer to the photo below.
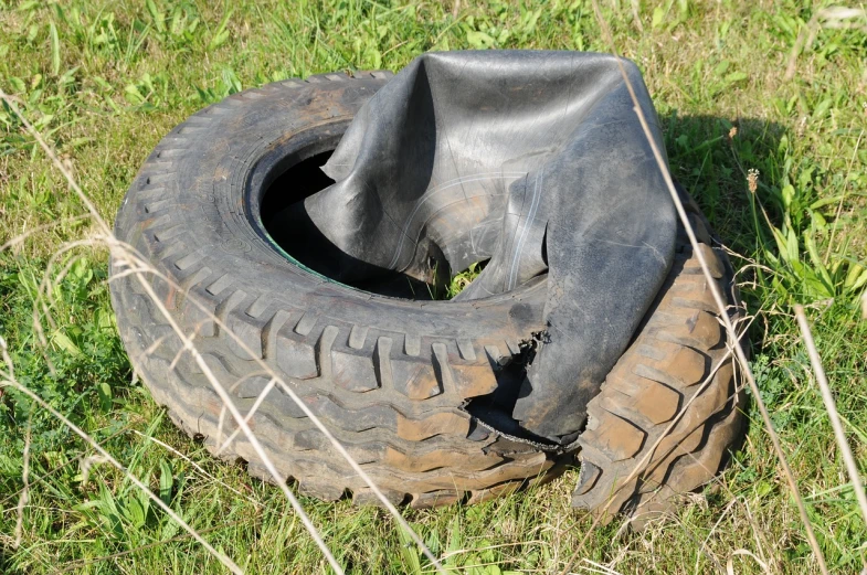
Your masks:
{"label": "brown muddy tread section right of the tear, beside the grey inner tube", "polygon": [[[737,324],[742,309],[728,256],[696,203],[680,195]],[[604,521],[625,512],[641,526],[670,511],[676,496],[715,477],[742,436],[744,396],[736,362],[726,359],[732,342],[683,230],[677,242],[672,271],[632,345],[588,404],[572,505],[593,510]]]}

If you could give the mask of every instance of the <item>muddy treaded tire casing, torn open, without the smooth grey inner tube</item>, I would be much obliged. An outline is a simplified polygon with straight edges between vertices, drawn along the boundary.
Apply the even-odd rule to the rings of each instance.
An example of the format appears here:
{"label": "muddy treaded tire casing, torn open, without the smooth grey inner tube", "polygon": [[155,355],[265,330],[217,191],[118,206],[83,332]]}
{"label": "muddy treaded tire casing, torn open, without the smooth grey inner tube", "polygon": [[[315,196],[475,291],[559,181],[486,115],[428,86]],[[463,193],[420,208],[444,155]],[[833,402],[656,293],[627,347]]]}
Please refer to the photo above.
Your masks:
{"label": "muddy treaded tire casing, torn open, without the smooth grey inner tube", "polygon": [[[171,320],[193,337],[241,413],[250,412],[268,385],[266,366],[321,418],[392,502],[482,501],[553,477],[577,447],[540,440],[510,419],[524,362],[544,329],[544,278],[468,302],[371,294],[329,280],[284,253],[258,211],[265,190],[283,172],[293,173],[286,170],[336,147],[352,116],[389,76],[368,72],[293,79],[234,94],[194,114],[142,166],[118,212],[115,234],[158,271],[147,280]],[[139,280],[123,271],[113,259],[112,274],[119,275],[110,285],[112,301],[134,369],[155,401],[211,452],[246,461],[251,475],[272,480],[243,435],[220,450],[235,430],[232,418],[223,416],[218,394],[169,320]],[[677,264],[670,286],[680,286],[681,276],[698,286],[692,268]],[[680,306],[686,296],[666,297],[615,371],[656,353],[645,349],[645,332],[669,329],[663,319],[668,312],[659,311],[675,300]],[[706,323],[700,322],[702,329]],[[683,326],[670,329],[679,333]],[[653,345],[659,349],[674,345],[670,338],[657,340]],[[710,355],[711,348],[702,345],[694,344]],[[606,383],[600,397],[612,401],[612,390]],[[636,401],[653,400],[651,394]],[[585,460],[603,470],[594,480],[599,486],[612,477],[610,469],[617,473],[623,459],[605,460],[596,452],[610,452],[605,446],[634,435],[600,434],[599,422],[609,413],[601,405],[591,403],[591,430],[580,440],[593,454]],[[649,437],[656,427],[643,417],[653,416],[653,409],[642,405],[635,413],[641,417],[630,415],[630,425],[644,426]],[[250,423],[281,475],[297,482],[300,492],[377,503],[281,387],[268,393]],[[719,441],[700,446],[698,451],[719,459]]]}

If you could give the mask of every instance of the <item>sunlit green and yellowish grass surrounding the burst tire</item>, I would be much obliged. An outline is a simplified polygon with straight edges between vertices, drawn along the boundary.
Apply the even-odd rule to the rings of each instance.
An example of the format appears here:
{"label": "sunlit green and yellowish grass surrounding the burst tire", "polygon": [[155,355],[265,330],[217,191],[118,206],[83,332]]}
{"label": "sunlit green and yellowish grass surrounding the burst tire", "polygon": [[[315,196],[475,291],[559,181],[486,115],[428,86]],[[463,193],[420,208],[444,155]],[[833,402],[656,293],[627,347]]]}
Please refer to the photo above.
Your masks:
{"label": "sunlit green and yellowish grass surrounding the burst tire", "polygon": [[[335,70],[399,70],[427,50],[609,49],[583,0],[464,2],[456,18],[452,8],[356,0],[0,0],[0,87],[112,221],[162,135],[240,89]],[[618,51],[644,72],[673,173],[740,254],[741,294],[758,315],[752,366],[763,400],[831,569],[856,573],[865,568],[867,525],[792,305],[807,307],[865,473],[867,321],[859,297],[867,283],[867,20],[834,28],[823,18],[808,25],[817,8],[795,0],[614,1],[605,2],[603,14]],[[812,41],[799,40],[808,30],[815,30]],[[793,51],[795,74],[787,81]],[[750,177],[752,170],[758,174]],[[51,259],[67,243],[93,235],[85,213],[1,106],[0,245],[30,234],[0,251],[0,336],[18,380],[247,573],[327,571],[278,490],[209,457],[133,381],[108,302],[105,251],[84,245]],[[43,322],[44,347],[33,306],[46,274],[54,322]],[[10,387],[0,392],[0,572],[223,572],[67,428]],[[743,448],[718,481],[684,498],[677,517],[644,533],[598,528],[574,571],[707,573],[725,572],[731,562],[734,573],[816,572],[766,432],[757,414],[750,418]],[[17,544],[25,444],[31,486]],[[575,480],[571,471],[489,503],[408,510],[405,517],[456,573],[558,572],[591,524],[569,509]],[[348,571],[429,568],[381,510],[302,501]]]}

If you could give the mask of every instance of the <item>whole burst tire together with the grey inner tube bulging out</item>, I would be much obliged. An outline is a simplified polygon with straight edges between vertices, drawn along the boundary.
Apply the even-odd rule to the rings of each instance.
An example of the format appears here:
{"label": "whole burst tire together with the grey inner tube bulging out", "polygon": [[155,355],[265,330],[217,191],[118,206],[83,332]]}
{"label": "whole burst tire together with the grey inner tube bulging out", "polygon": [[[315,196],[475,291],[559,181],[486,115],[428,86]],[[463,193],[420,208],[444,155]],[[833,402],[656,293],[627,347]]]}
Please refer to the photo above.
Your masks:
{"label": "whole burst tire together with the grey inner tube bulging out", "polygon": [[[283,478],[326,500],[376,502],[288,390],[392,502],[480,501],[552,477],[581,446],[595,471],[582,473],[575,504],[599,508],[586,493],[621,485],[616,466],[641,457],[641,438],[699,393],[691,380],[726,347],[725,334],[691,336],[712,328],[696,315],[712,317],[707,286],[678,279],[692,274],[690,249],[617,70],[599,54],[425,55],[391,81],[286,81],[190,117],[145,162],[115,224],[158,271],[146,281],[170,316],[113,259],[119,331],[155,400],[218,451],[236,429],[222,386],[242,413],[255,409],[251,426]],[[694,214],[734,302],[728,260]],[[464,292],[436,300],[452,271],[484,260]],[[646,370],[618,376],[670,390],[665,413],[651,383],[635,383],[645,395],[602,385],[636,358],[679,373],[647,330],[672,340],[665,353],[704,358],[690,356],[677,385]],[[739,422],[731,371],[717,373],[708,388],[723,392],[689,437],[728,437],[720,426]],[[611,433],[596,430],[600,409],[617,414],[603,422]],[[630,447],[614,449],[624,437]],[[701,450],[719,464],[731,441],[702,439],[657,467]],[[271,479],[243,434],[219,452]],[[704,477],[655,473],[673,492]],[[648,485],[626,486],[617,508],[649,501]]]}

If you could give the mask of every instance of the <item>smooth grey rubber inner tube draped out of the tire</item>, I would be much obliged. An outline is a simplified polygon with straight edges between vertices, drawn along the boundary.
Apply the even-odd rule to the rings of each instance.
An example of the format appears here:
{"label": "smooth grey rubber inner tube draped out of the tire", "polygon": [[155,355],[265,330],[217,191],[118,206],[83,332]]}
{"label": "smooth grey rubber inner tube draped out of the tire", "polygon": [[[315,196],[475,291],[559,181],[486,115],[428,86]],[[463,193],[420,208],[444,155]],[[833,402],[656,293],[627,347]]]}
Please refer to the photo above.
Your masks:
{"label": "smooth grey rubber inner tube draped out of the tire", "polygon": [[336,183],[294,215],[336,246],[339,280],[489,259],[467,301],[547,274],[547,331],[512,417],[553,441],[583,428],[674,257],[674,204],[620,64],[664,150],[630,61],[430,53],[361,108],[323,168]]}

